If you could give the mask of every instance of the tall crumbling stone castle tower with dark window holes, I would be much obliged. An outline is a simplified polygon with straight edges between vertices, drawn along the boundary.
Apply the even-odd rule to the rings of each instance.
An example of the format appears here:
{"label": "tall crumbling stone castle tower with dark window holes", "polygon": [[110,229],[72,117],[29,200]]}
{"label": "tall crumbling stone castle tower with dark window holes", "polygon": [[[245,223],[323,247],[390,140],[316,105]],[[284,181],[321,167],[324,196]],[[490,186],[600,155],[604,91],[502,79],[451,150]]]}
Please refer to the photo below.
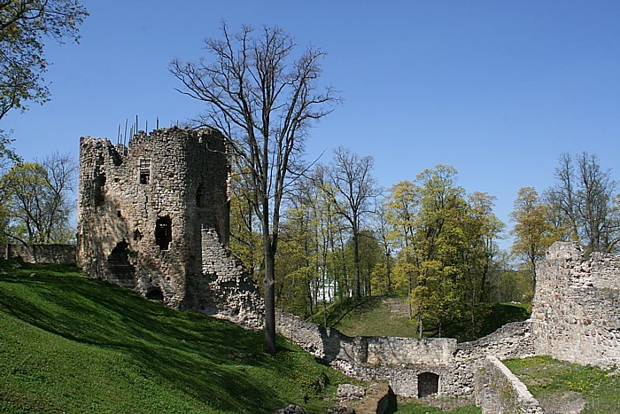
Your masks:
{"label": "tall crumbling stone castle tower with dark window holes", "polygon": [[262,301],[228,249],[229,163],[215,129],[80,140],[78,263],[168,306],[260,324]]}

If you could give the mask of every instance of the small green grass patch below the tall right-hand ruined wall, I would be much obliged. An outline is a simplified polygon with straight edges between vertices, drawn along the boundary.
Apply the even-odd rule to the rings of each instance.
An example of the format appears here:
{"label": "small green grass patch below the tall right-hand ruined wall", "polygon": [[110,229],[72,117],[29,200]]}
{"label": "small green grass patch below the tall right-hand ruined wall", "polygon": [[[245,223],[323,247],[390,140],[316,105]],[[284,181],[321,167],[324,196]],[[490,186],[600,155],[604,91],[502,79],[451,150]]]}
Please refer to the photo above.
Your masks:
{"label": "small green grass patch below the tall right-hand ruined wall", "polygon": [[576,412],[571,410],[575,404],[585,404],[584,413],[620,412],[620,369],[601,370],[550,356],[512,359],[504,364],[549,412]]}

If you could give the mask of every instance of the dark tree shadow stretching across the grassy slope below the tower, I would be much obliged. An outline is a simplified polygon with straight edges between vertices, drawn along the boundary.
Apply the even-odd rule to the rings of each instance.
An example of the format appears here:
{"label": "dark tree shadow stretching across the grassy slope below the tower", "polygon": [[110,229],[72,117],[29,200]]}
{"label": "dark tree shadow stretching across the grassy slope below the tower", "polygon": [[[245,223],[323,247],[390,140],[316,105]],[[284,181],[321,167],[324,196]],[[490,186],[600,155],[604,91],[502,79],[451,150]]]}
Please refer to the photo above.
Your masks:
{"label": "dark tree shadow stretching across the grassy slope below the tower", "polygon": [[[282,340],[283,352],[265,355],[261,332],[167,309],[98,280],[0,276],[0,312],[66,340],[118,350],[135,361],[144,378],[208,400],[217,410],[271,412],[289,404],[275,387],[291,371],[292,379],[313,387],[312,376],[306,380],[305,372],[295,372],[298,351]],[[278,385],[268,380],[273,372],[281,377]]]}

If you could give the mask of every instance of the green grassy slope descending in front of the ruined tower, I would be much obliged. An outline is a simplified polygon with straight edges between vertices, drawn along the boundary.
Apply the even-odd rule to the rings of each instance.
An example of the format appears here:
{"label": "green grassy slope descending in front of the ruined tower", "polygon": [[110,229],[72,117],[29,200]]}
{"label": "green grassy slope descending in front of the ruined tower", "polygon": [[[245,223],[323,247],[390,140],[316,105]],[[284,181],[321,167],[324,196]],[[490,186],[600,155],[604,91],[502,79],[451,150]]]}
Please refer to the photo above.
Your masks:
{"label": "green grassy slope descending in front of the ruined tower", "polygon": [[278,339],[63,266],[0,265],[0,412],[325,412],[352,382]]}

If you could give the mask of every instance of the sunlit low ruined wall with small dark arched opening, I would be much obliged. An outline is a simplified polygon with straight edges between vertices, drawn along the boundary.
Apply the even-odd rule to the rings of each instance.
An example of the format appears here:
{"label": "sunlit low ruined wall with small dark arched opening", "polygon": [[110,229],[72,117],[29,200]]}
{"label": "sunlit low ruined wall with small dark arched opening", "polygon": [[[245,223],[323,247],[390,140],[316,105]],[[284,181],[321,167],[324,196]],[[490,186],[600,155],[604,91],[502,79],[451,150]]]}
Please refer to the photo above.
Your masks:
{"label": "sunlit low ruined wall with small dark arched opening", "polygon": [[283,312],[277,313],[276,326],[279,333],[345,374],[386,380],[394,393],[404,396],[418,396],[420,379],[432,374],[438,377],[438,394],[470,397],[486,355],[514,358],[533,353],[525,322],[507,324],[461,344],[449,338],[349,337]]}

